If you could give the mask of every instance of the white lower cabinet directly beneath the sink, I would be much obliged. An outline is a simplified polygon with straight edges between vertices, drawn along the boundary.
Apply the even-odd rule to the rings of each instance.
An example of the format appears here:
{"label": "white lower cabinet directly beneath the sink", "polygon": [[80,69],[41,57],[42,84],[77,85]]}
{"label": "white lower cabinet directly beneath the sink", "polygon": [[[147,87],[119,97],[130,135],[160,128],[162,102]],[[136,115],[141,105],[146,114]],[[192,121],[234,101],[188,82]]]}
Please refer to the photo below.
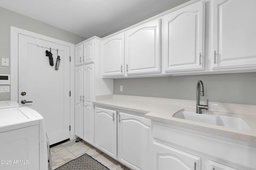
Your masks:
{"label": "white lower cabinet directly beneath the sink", "polygon": [[151,127],[150,170],[256,170],[255,144],[156,121]]}

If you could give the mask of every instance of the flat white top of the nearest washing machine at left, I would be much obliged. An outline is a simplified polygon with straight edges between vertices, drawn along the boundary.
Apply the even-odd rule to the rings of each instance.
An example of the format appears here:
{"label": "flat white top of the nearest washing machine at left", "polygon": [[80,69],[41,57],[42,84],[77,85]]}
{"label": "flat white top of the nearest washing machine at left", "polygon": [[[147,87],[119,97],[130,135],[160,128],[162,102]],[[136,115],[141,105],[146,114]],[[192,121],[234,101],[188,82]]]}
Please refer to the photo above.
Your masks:
{"label": "flat white top of the nearest washing machine at left", "polygon": [[39,119],[23,107],[0,109],[0,133],[39,125]]}

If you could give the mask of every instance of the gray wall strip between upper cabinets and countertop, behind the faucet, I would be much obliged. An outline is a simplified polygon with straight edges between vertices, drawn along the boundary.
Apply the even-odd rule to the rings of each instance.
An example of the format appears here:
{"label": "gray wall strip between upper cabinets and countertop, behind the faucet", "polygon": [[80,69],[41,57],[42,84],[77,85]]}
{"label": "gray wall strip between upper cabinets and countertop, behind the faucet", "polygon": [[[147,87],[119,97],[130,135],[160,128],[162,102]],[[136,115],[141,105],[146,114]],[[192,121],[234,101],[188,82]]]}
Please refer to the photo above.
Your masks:
{"label": "gray wall strip between upper cabinets and countertop, behind the faucet", "polygon": [[114,94],[196,100],[198,80],[203,101],[256,105],[256,72],[115,79]]}

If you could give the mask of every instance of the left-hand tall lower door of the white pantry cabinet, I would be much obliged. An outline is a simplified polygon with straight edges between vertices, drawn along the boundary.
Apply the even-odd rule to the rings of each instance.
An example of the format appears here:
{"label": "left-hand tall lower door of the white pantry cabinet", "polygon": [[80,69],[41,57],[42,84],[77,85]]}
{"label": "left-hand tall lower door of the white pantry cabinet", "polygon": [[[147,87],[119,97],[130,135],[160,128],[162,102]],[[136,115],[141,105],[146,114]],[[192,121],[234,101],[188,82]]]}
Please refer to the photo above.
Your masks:
{"label": "left-hand tall lower door of the white pantry cabinet", "polygon": [[83,134],[83,67],[75,69],[75,135],[82,138]]}

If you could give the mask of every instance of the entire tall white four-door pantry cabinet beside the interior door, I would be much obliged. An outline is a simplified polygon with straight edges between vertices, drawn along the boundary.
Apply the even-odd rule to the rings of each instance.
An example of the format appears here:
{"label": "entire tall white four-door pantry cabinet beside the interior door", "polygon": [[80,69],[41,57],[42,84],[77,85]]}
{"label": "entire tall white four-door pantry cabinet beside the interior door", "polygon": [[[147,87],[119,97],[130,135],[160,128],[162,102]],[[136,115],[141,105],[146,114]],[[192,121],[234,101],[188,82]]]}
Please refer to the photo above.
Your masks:
{"label": "entire tall white four-door pantry cabinet beside the interior door", "polygon": [[75,135],[94,145],[96,96],[113,94],[113,80],[103,80],[100,61],[101,40],[92,37],[75,46]]}

